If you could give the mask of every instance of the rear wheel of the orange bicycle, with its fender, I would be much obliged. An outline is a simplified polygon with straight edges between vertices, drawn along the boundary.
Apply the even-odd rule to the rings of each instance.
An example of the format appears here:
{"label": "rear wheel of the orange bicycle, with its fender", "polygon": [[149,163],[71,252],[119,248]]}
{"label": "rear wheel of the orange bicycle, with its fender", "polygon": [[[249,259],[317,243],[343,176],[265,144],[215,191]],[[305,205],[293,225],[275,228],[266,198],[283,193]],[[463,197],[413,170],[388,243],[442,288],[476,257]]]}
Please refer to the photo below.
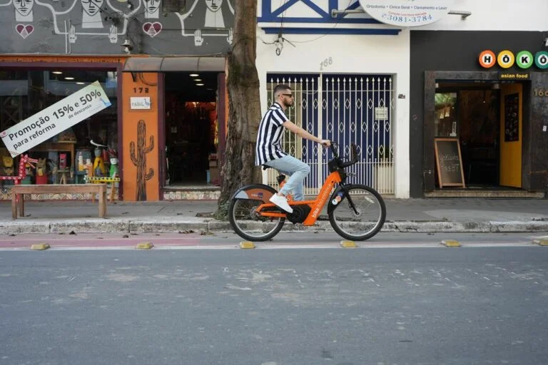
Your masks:
{"label": "rear wheel of the orange bicycle, with its fender", "polygon": [[268,203],[275,193],[273,187],[263,184],[247,185],[235,192],[228,208],[228,220],[238,236],[261,242],[278,235],[285,218],[261,217],[254,212],[259,205]]}

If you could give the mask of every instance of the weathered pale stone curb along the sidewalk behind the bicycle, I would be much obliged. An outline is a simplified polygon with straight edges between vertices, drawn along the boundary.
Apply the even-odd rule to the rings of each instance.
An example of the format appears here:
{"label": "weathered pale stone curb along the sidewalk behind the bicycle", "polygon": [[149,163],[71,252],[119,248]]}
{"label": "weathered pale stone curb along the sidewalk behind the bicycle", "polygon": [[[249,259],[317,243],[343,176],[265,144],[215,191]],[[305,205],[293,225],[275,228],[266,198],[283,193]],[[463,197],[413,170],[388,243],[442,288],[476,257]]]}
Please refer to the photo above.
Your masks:
{"label": "weathered pale stone curb along the sidewalk behind the bicycle", "polygon": [[[257,223],[259,228],[261,223]],[[229,222],[208,218],[188,217],[174,221],[172,217],[158,217],[156,220],[88,219],[63,221],[7,221],[0,222],[0,235],[48,234],[48,233],[177,233],[184,230],[194,232],[233,232]],[[328,221],[318,221],[312,227],[293,225],[286,222],[285,232],[333,232]],[[396,221],[385,222],[381,232],[400,233],[510,233],[548,232],[548,221],[512,222],[447,222],[447,221]]]}

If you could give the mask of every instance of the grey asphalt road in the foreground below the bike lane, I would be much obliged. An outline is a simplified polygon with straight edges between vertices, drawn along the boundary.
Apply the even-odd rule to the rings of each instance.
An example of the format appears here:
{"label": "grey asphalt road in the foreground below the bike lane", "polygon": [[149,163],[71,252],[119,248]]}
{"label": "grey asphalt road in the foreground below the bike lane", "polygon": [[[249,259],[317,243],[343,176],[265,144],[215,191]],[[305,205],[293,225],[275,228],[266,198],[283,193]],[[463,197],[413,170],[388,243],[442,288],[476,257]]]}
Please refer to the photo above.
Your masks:
{"label": "grey asphalt road in the foreground below the bike lane", "polygon": [[548,248],[0,251],[0,364],[547,364]]}

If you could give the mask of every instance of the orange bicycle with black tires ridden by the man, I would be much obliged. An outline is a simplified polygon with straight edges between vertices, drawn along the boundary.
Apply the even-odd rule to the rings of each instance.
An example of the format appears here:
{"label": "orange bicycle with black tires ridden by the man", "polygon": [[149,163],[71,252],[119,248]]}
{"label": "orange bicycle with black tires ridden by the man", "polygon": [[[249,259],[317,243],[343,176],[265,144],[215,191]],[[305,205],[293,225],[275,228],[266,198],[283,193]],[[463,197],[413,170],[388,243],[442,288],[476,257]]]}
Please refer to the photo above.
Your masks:
{"label": "orange bicycle with black tires ridden by the man", "polygon": [[[356,241],[376,235],[385,223],[385,202],[372,187],[345,183],[347,177],[353,175],[347,173],[345,168],[357,163],[357,148],[352,143],[352,157],[344,161],[339,157],[336,147],[337,144],[331,142],[333,159],[328,163],[330,174],[318,196],[314,200],[295,201],[288,195],[292,213],[285,212],[269,201],[277,193],[273,187],[263,184],[241,187],[233,195],[228,210],[233,230],[245,240],[270,240],[280,232],[286,218],[293,224],[314,225],[329,199],[329,221],[338,235]],[[284,181],[285,175],[279,175],[280,187]]]}

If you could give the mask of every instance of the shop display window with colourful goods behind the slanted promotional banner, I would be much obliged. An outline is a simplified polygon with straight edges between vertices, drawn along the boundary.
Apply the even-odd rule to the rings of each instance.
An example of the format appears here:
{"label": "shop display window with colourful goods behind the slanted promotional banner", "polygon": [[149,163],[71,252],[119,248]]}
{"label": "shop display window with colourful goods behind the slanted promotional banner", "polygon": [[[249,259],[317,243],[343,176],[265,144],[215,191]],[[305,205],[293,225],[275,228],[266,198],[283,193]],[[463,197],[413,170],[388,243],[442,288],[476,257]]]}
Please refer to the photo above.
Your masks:
{"label": "shop display window with colourful goods behind the slanted promotional banner", "polygon": [[[30,176],[23,183],[84,183],[84,176],[88,171],[86,168],[93,165],[96,149],[99,150],[97,153],[103,163],[102,171],[108,175],[111,157],[118,156],[116,78],[116,71],[113,70],[0,70],[0,130],[6,130],[39,113],[94,81],[101,83],[111,101],[108,108],[26,151],[31,158],[41,159],[42,162],[40,171],[30,169]],[[91,145],[91,140],[106,147],[96,148]],[[16,171],[6,170],[5,167],[11,163],[17,166],[18,158],[9,161],[11,157],[4,145],[1,145],[0,156],[0,168],[4,169],[0,175],[15,174]],[[9,183],[11,182],[4,182]]]}

